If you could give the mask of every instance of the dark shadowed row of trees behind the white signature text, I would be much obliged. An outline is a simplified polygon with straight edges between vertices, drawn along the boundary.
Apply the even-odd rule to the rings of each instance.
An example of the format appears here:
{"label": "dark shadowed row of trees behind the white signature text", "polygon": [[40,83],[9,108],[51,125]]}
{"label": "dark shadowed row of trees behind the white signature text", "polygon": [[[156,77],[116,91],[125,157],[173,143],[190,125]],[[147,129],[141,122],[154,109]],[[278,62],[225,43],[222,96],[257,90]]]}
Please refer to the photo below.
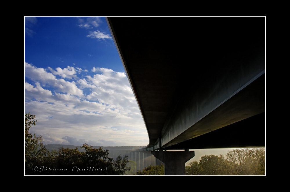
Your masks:
{"label": "dark shadowed row of trees behind the white signature text", "polygon": [[32,135],[29,128],[35,123],[35,115],[25,114],[25,175],[125,175],[128,156],[108,157],[108,150],[93,148],[87,143],[77,148],[47,150],[42,137]]}

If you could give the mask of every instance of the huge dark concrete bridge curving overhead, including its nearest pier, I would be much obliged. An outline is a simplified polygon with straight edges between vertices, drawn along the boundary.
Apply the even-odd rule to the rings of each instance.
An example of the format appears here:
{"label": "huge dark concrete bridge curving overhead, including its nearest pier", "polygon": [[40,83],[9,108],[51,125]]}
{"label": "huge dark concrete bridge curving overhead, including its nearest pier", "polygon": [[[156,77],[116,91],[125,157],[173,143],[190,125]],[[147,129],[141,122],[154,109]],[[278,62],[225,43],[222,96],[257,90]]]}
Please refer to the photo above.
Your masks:
{"label": "huge dark concrete bridge curving overhead, including its nearest pier", "polygon": [[166,175],[189,149],[265,146],[264,17],[106,19]]}

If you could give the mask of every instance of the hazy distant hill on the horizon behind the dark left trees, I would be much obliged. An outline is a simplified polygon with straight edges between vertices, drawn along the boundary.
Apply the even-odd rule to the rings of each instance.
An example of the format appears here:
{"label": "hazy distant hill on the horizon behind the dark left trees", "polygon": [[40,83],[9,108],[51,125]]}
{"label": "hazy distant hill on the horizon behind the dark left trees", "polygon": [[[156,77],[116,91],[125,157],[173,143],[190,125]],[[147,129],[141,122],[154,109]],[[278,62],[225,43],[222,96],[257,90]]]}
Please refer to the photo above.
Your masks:
{"label": "hazy distant hill on the horizon behind the dark left trees", "polygon": [[[44,147],[49,150],[58,150],[59,148],[63,147],[63,148],[69,148],[69,149],[75,149],[77,148],[79,150],[79,152],[84,152],[84,149],[81,149],[81,146],[75,146],[75,145],[63,145],[63,144],[49,144],[49,145],[44,145]],[[102,148],[103,150],[130,150],[130,149],[139,149],[139,148],[143,148],[146,146],[93,146],[93,148]]]}

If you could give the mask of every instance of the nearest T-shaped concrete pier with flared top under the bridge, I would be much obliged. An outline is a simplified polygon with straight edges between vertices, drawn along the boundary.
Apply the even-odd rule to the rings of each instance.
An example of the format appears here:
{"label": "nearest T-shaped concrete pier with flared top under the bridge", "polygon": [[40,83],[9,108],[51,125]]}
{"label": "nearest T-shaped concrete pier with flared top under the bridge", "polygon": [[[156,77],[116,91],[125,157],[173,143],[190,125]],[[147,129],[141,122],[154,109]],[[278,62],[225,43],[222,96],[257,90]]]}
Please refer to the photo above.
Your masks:
{"label": "nearest T-shaped concrete pier with flared top under the bridge", "polygon": [[185,175],[185,163],[194,157],[194,151],[152,151],[162,161],[165,175]]}

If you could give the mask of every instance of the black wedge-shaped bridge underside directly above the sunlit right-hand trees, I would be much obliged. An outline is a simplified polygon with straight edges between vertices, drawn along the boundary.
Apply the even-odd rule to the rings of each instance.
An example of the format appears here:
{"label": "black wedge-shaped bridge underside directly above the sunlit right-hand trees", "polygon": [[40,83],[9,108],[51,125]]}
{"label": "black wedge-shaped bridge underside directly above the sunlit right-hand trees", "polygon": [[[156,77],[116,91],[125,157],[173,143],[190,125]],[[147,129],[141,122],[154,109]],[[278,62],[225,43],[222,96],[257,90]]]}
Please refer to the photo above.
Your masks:
{"label": "black wedge-shaped bridge underside directly above the sunlit right-hand trees", "polygon": [[195,137],[188,141],[164,148],[208,149],[208,148],[243,148],[265,146],[265,113],[236,122],[234,124]]}

